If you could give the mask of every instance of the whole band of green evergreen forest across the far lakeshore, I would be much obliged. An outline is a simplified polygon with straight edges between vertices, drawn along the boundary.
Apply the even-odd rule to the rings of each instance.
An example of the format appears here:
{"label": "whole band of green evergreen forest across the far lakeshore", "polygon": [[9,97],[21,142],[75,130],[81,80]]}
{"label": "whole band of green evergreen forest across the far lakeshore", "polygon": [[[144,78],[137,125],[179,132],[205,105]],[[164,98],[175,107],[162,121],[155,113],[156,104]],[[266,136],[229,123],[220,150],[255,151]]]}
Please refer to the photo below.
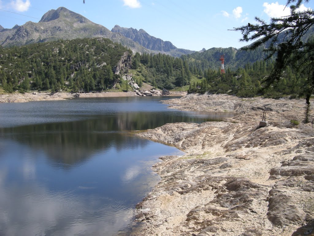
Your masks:
{"label": "whole band of green evergreen forest across the far lakeshore", "polygon": [[[58,40],[22,47],[0,47],[0,86],[8,93],[30,90],[90,92],[109,89],[128,91],[114,68],[124,52],[132,51],[104,38]],[[225,55],[225,74],[219,57]],[[138,85],[187,90],[189,93],[229,93],[241,97],[263,95],[302,96],[306,79],[286,67],[282,79],[267,89],[263,81],[274,68],[273,59],[263,60],[263,49],[241,51],[212,48],[175,58],[165,54],[135,53],[132,73]]]}

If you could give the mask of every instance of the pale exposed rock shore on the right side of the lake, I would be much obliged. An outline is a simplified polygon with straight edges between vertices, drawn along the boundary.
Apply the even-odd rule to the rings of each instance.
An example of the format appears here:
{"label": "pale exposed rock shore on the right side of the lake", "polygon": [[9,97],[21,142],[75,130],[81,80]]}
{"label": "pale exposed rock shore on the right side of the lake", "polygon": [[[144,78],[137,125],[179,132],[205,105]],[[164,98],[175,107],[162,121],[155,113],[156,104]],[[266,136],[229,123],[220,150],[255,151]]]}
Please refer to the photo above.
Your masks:
{"label": "pale exposed rock shore on the right side of the lake", "polygon": [[[240,115],[138,134],[186,154],[153,166],[162,179],[137,205],[142,223],[134,235],[314,234],[314,128],[301,123],[304,100],[187,95],[165,102]],[[259,128],[263,110],[268,125]]]}

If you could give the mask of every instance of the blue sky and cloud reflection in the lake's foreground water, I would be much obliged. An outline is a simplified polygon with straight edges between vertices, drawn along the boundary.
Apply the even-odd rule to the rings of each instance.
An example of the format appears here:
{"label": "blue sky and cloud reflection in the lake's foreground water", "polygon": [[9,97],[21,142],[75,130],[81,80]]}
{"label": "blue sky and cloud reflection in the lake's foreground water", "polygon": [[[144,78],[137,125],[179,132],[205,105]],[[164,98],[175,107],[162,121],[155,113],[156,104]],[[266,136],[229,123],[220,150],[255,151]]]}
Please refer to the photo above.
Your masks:
{"label": "blue sky and cloud reflection in the lake's foreground water", "polygon": [[0,235],[115,235],[159,181],[149,168],[156,159],[147,153],[179,154],[143,142],[133,156],[131,150],[117,155],[114,148],[107,149],[69,170],[51,168],[40,149],[1,140]]}

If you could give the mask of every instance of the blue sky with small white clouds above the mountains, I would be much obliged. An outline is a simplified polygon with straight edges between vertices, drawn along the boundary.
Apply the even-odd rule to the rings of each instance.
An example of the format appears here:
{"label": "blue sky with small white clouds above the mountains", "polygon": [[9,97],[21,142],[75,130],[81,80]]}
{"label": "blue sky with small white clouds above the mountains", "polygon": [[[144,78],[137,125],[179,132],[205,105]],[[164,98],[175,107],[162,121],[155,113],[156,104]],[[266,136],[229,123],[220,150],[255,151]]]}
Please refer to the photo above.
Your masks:
{"label": "blue sky with small white clouds above the mountains", "polygon": [[[48,10],[62,6],[109,30],[114,25],[144,29],[178,48],[240,48],[246,45],[239,42],[241,34],[228,30],[254,23],[255,16],[264,20],[286,16],[289,9],[284,11],[285,3],[286,0],[85,0],[85,4],[83,0],[0,0],[0,25],[12,28],[27,21],[38,22]],[[314,1],[302,9],[308,7],[313,9]]]}

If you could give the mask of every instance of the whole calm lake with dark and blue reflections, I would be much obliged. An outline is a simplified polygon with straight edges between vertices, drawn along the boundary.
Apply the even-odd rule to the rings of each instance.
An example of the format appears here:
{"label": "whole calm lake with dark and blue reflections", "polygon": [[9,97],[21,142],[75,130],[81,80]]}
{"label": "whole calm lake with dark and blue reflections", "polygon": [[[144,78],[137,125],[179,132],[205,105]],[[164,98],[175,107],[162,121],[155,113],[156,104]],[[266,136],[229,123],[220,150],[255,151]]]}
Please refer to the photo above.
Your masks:
{"label": "whole calm lake with dark and blue reflections", "polygon": [[131,131],[233,116],[167,109],[160,99],[0,104],[0,236],[125,231],[160,179],[151,165],[183,155]]}

